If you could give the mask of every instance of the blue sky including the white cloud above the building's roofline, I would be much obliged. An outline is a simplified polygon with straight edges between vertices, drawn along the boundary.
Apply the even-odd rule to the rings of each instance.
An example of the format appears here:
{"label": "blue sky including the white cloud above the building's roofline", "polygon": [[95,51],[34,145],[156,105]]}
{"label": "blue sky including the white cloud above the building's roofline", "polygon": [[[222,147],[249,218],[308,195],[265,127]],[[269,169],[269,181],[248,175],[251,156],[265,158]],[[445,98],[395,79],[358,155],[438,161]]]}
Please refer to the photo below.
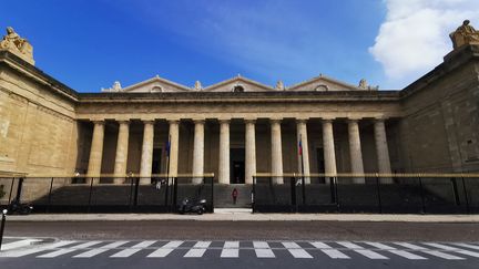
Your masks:
{"label": "blue sky including the white cloud above the building's roofline", "polygon": [[0,27],[80,92],[156,74],[206,86],[238,73],[269,85],[323,73],[402,89],[441,62],[463,17],[479,23],[476,11],[475,0],[32,0],[3,2]]}

